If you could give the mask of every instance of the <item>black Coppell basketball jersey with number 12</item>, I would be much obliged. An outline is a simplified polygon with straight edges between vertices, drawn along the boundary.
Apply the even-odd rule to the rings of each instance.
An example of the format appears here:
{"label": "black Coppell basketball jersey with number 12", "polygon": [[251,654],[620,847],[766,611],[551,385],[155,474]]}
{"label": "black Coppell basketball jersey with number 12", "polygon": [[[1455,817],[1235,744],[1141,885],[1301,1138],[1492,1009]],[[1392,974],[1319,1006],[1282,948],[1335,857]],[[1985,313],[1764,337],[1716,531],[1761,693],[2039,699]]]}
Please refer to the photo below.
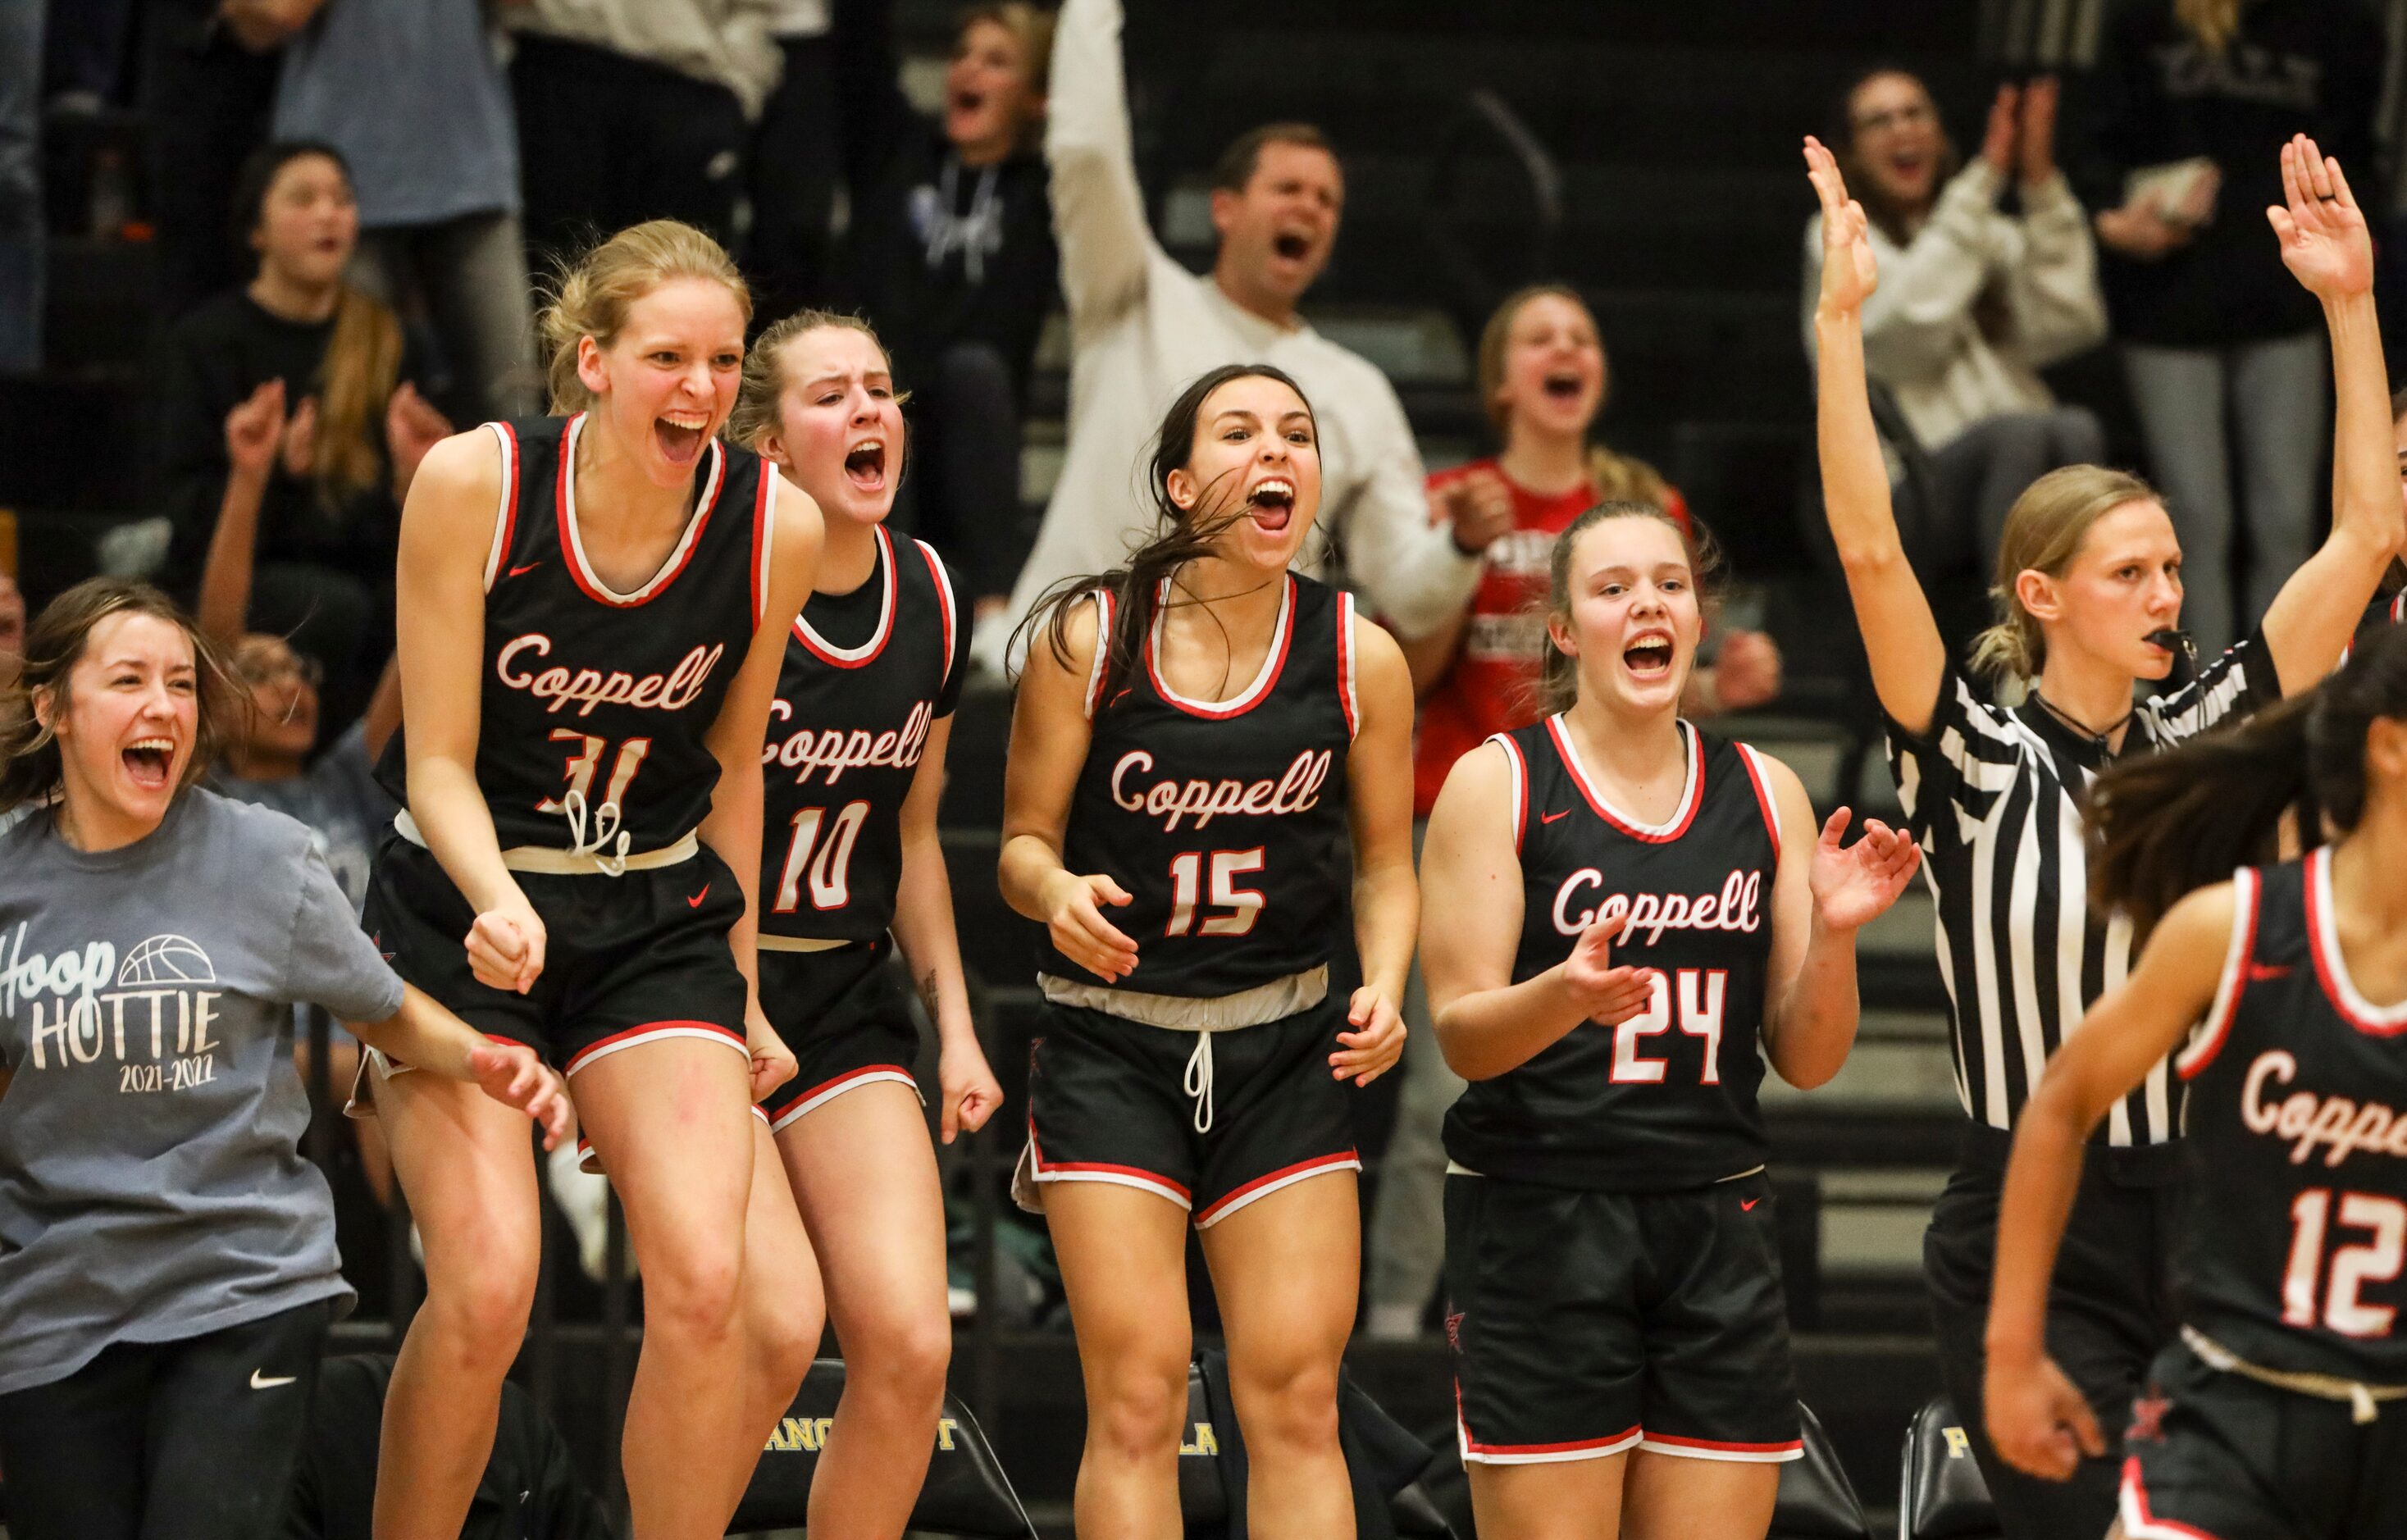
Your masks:
{"label": "black Coppell basketball jersey with number 12", "polygon": [[2366,1003],[2332,922],[2332,852],[2234,873],[2214,1006],[2174,1059],[2200,1194],[2181,1319],[2241,1357],[2407,1384],[2407,1006]]}

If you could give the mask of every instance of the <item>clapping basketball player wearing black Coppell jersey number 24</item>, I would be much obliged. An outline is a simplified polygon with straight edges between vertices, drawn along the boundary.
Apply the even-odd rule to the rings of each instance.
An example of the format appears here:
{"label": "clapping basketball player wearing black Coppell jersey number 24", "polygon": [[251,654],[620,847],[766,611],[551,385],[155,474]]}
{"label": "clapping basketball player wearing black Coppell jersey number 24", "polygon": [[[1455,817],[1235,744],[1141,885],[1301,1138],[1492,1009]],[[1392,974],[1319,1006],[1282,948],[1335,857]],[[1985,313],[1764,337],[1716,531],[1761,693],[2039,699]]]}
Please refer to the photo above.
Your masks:
{"label": "clapping basketball player wearing black Coppell jersey number 24", "polygon": [[[1456,760],[1420,965],[1447,1114],[1447,1338],[1483,1535],[1760,1538],[1803,1453],[1762,1056],[1856,1042],[1856,929],[1914,876],[1779,760],[1680,719],[1714,570],[1651,503],[1550,563],[1543,717]],[[1757,1056],[1762,1054],[1762,1056]]]}

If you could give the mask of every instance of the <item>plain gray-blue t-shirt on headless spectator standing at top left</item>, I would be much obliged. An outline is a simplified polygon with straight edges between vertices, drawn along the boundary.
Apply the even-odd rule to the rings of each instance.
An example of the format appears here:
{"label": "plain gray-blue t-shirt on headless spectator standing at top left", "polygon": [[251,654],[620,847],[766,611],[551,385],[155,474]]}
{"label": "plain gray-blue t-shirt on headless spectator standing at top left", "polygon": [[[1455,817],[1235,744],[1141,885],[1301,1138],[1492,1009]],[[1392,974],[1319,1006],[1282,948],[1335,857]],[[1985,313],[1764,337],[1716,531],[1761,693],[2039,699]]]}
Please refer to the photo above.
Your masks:
{"label": "plain gray-blue t-shirt on headless spectator standing at top left", "polygon": [[479,0],[342,0],[284,48],[274,135],[351,164],[359,226],[518,214],[518,118]]}

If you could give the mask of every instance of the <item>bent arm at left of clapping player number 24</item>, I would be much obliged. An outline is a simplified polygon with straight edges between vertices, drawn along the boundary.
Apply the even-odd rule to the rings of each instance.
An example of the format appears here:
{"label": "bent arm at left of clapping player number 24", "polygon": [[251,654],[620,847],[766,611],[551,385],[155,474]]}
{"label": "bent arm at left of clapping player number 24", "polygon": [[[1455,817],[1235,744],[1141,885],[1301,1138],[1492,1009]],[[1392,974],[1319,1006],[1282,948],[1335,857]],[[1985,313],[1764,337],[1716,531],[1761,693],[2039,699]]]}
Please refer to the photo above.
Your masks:
{"label": "bent arm at left of clapping player number 24", "polygon": [[1420,977],[1430,984],[1430,1023],[1447,1066],[1466,1080],[1492,1080],[1555,1047],[1591,1020],[1615,1025],[1654,999],[1646,967],[1613,962],[1613,941],[1630,905],[1608,902],[1581,931],[1572,955],[1514,982],[1521,946],[1521,852],[1526,816],[1514,763],[1492,741],[1454,760],[1430,833],[1420,842]]}

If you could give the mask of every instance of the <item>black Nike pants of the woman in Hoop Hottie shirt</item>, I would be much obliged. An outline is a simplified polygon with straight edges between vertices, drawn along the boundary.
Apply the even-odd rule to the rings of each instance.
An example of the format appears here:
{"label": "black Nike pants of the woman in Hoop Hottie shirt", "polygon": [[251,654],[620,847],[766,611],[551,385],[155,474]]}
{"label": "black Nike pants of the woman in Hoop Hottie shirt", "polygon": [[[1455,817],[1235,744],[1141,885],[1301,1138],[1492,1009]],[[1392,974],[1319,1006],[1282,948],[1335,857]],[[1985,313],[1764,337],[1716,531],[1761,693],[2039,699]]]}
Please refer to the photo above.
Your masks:
{"label": "black Nike pants of the woman in Hoop Hottie shirt", "polygon": [[178,1343],[118,1343],[0,1396],[12,1540],[270,1540],[332,1304]]}

